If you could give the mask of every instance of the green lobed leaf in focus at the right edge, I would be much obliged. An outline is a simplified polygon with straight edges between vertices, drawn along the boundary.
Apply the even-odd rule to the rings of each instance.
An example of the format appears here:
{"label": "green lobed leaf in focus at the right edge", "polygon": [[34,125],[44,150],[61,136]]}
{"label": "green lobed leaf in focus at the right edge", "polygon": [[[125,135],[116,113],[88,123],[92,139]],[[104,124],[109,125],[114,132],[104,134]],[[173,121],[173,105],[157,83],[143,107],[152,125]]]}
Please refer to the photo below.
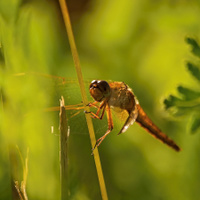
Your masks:
{"label": "green lobed leaf in focus at the right edge", "polygon": [[[186,38],[186,42],[192,47],[194,56],[200,58],[200,46],[193,38]],[[200,61],[200,60],[199,60]],[[200,81],[200,64],[187,62],[188,72],[194,79]],[[193,90],[183,86],[177,87],[178,96],[170,95],[164,100],[165,108],[171,110],[174,115],[189,115],[190,132],[196,133],[200,131],[200,90]]]}

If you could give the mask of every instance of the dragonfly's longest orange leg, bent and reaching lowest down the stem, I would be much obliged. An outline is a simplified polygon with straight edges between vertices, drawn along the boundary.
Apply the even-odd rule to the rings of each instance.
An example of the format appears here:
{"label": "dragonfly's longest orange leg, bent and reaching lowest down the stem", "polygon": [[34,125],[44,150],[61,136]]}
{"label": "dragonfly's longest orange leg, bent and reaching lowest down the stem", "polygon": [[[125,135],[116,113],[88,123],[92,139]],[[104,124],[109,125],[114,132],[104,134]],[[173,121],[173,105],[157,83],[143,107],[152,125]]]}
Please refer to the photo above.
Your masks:
{"label": "dragonfly's longest orange leg, bent and reaching lowest down the stem", "polygon": [[[106,103],[105,104],[105,108],[106,108],[106,112],[107,112],[107,119],[108,119],[108,130],[106,131],[106,133],[100,137],[97,141],[96,141],[96,144],[94,145],[94,148],[92,149],[92,151],[94,151],[94,149],[96,147],[98,147],[102,142],[103,140],[105,139],[105,137],[112,131],[113,129],[113,120],[112,120],[112,114],[111,114],[111,110],[110,110],[110,107],[108,106],[108,104]],[[105,110],[105,109],[104,109]]]}

